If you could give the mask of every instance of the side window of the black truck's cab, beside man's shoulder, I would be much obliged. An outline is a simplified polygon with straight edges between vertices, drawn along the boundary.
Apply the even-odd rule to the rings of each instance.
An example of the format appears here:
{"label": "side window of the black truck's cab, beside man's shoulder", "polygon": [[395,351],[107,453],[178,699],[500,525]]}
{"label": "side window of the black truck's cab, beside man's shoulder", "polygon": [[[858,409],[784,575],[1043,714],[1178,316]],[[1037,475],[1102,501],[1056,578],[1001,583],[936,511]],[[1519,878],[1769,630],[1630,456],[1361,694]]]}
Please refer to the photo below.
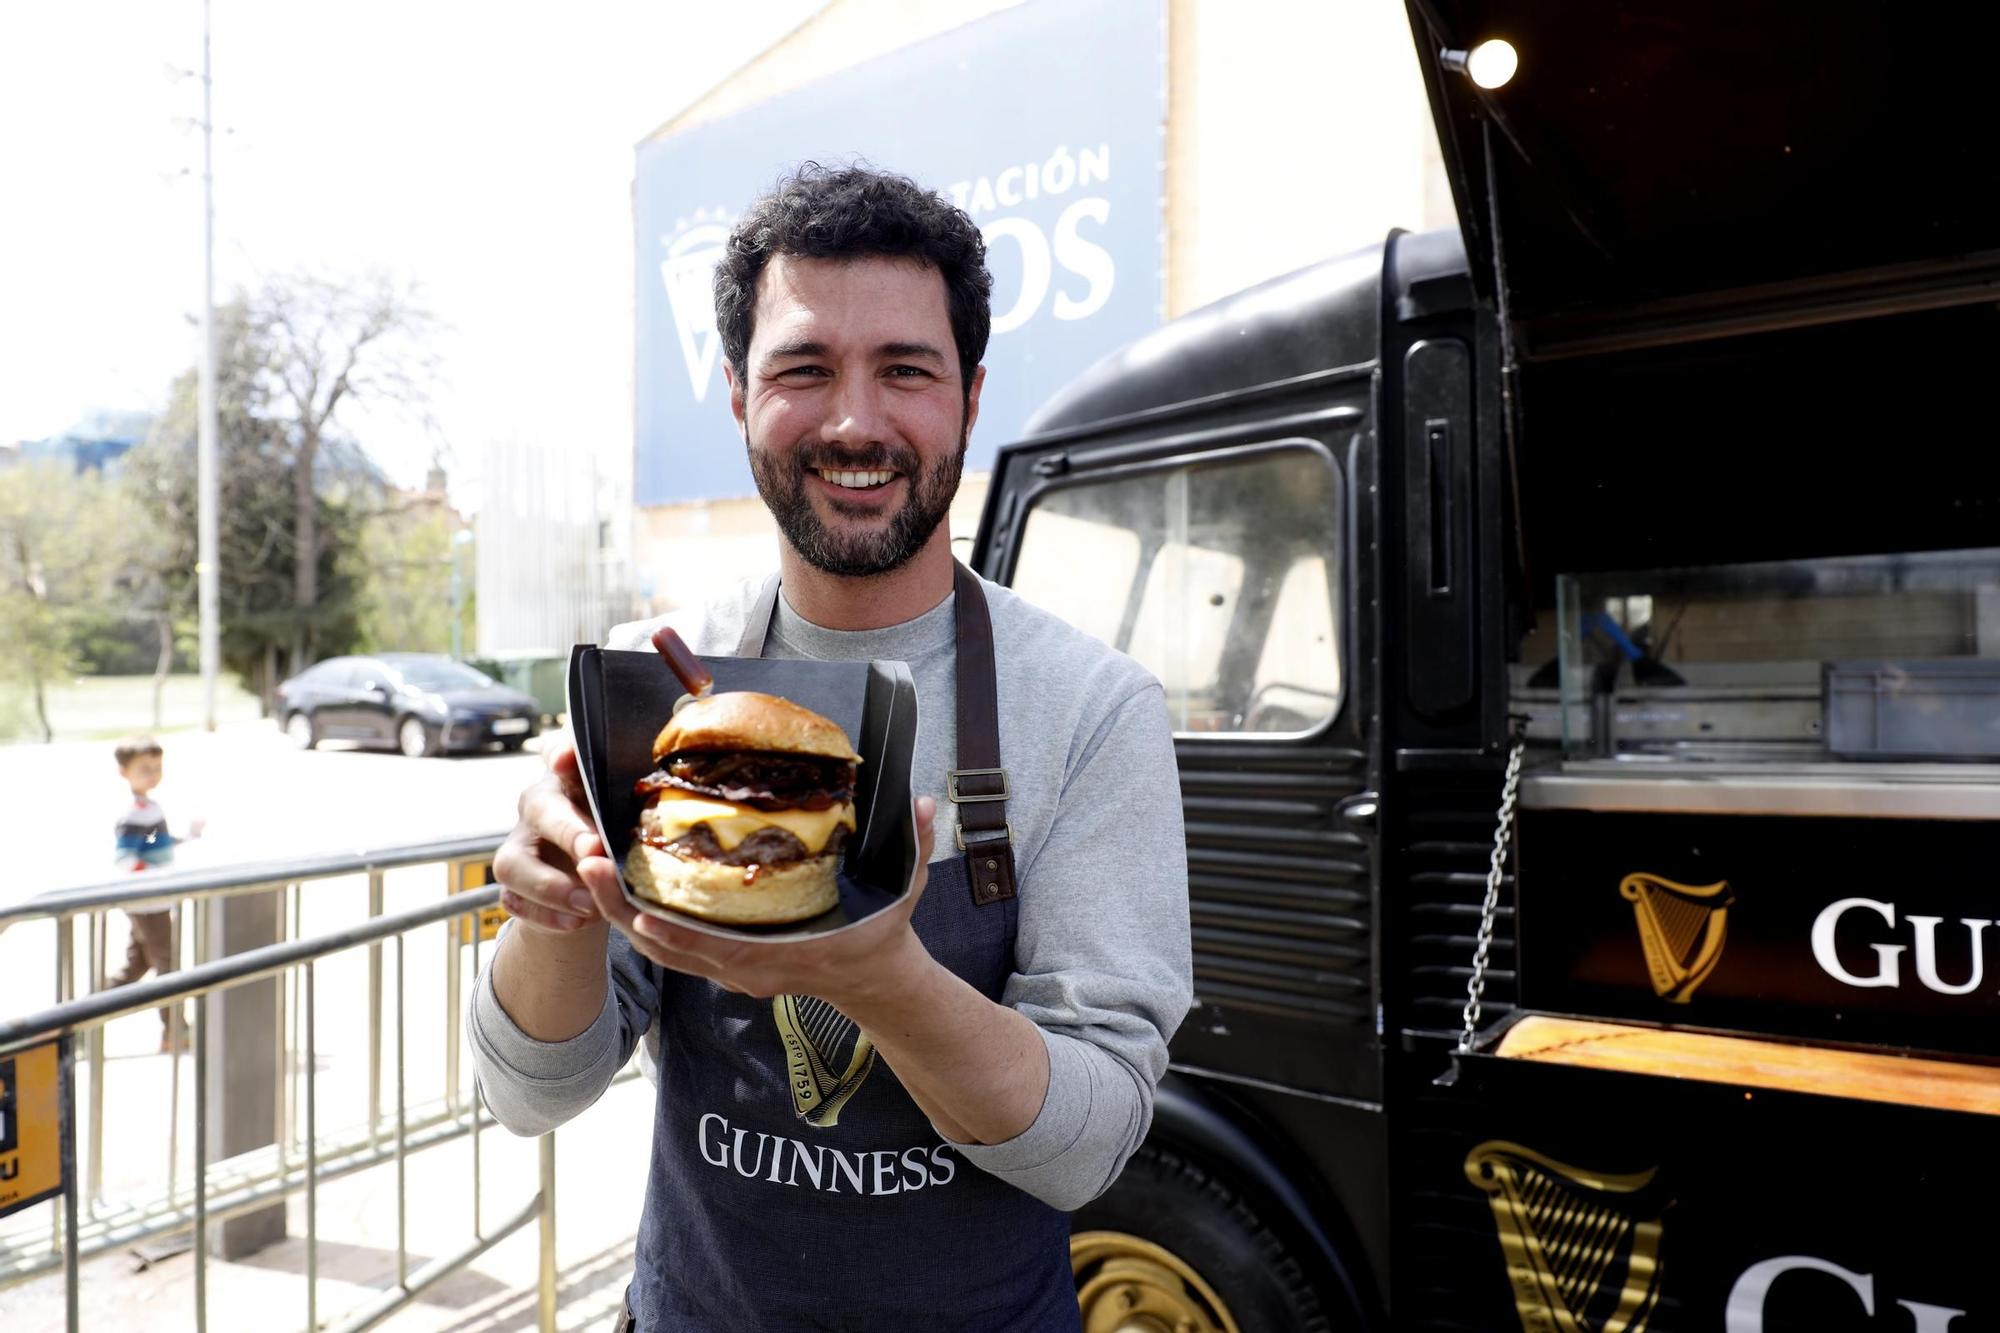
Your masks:
{"label": "side window of the black truck's cab, beside man's shoulder", "polygon": [[1132,654],[1184,735],[1340,711],[1338,474],[1304,442],[1084,476],[1028,510],[1016,592]]}

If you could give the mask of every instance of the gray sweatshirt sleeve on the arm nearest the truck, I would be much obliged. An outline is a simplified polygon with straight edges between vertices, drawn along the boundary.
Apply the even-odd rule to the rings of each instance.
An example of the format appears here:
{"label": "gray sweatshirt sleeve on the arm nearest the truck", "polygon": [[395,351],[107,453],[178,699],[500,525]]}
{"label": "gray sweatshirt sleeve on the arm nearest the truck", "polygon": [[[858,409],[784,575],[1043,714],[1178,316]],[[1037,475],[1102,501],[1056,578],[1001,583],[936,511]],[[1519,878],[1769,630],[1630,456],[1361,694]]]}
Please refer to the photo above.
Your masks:
{"label": "gray sweatshirt sleeve on the arm nearest the truck", "polygon": [[1064,1211],[1110,1189],[1146,1137],[1166,1043],[1192,1005],[1176,775],[1166,697],[1148,683],[1084,747],[1048,841],[1022,867],[1002,999],[1042,1029],[1048,1095],[1014,1139],[954,1147]]}

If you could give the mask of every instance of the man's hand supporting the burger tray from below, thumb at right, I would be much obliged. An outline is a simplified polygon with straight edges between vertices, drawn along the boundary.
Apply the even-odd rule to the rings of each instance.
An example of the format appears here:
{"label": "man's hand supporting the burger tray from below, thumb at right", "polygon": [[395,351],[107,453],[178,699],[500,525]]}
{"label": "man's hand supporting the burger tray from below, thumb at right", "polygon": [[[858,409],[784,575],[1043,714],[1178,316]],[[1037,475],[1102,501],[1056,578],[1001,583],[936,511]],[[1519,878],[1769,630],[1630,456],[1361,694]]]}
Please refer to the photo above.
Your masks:
{"label": "man's hand supporting the burger tray from below, thumb at right", "polygon": [[[704,931],[642,913],[618,893],[618,881],[590,881],[596,911],[632,939],[642,955],[690,977],[706,977],[726,991],[756,999],[772,995],[814,995],[846,1011],[866,1001],[906,965],[930,963],[910,929],[910,913],[924,893],[936,801],[916,803],[916,883],[894,905],[884,907],[852,931],[816,941],[722,939]],[[610,863],[606,863],[610,865]],[[920,959],[916,955],[922,955]],[[852,1013],[848,1017],[854,1017]]]}

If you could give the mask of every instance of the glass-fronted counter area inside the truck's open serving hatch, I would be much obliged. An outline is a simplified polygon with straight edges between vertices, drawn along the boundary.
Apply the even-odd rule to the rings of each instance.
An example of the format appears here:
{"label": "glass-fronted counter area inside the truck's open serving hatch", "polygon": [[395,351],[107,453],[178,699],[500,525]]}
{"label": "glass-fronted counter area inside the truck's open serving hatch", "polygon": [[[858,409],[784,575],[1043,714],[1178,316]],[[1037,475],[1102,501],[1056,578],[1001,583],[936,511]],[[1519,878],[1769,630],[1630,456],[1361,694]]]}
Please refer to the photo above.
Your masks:
{"label": "glass-fronted counter area inside the truck's open serving hatch", "polygon": [[2000,761],[2000,550],[1556,578],[1514,666],[1572,763]]}

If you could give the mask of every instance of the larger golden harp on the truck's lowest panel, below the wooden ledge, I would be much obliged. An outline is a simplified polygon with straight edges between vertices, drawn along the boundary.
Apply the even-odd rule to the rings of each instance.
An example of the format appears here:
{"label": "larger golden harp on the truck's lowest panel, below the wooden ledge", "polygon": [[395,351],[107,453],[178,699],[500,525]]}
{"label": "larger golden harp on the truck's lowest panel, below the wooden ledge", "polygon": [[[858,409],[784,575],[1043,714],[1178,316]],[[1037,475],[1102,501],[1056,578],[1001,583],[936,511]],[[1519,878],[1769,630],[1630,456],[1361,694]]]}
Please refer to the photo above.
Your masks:
{"label": "larger golden harp on the truck's lowest panel, below the wooden ledge", "polygon": [[1632,1205],[1656,1171],[1580,1171],[1498,1139],[1466,1153],[1524,1333],[1644,1333],[1660,1297],[1660,1219]]}

